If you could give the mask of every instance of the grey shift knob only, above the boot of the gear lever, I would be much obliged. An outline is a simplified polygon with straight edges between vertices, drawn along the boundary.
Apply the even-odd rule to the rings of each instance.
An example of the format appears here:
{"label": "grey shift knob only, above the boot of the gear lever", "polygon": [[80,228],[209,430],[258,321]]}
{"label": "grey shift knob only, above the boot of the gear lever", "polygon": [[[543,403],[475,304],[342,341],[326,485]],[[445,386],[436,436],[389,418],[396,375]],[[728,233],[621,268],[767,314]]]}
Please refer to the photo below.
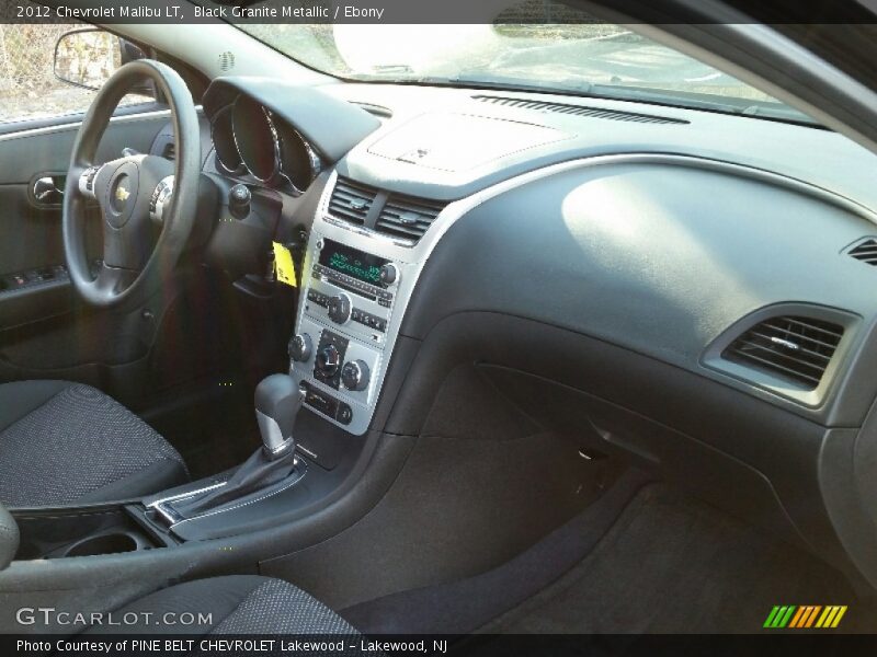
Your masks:
{"label": "grey shift knob only, above the boot of the gear lever", "polygon": [[295,449],[293,426],[305,401],[305,391],[288,374],[271,374],[255,387],[255,419],[269,459]]}

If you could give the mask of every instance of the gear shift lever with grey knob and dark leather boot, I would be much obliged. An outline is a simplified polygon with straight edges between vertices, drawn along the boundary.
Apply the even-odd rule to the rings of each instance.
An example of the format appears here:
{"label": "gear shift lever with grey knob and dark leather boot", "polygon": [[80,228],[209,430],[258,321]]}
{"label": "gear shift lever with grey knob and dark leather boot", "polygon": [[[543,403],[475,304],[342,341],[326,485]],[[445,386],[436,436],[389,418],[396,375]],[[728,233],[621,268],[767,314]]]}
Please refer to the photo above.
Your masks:
{"label": "gear shift lever with grey knob and dark leather boot", "polygon": [[255,388],[262,449],[253,452],[221,488],[196,499],[171,503],[172,510],[181,518],[192,518],[288,477],[296,466],[293,426],[304,401],[305,391],[288,374],[262,379]]}

